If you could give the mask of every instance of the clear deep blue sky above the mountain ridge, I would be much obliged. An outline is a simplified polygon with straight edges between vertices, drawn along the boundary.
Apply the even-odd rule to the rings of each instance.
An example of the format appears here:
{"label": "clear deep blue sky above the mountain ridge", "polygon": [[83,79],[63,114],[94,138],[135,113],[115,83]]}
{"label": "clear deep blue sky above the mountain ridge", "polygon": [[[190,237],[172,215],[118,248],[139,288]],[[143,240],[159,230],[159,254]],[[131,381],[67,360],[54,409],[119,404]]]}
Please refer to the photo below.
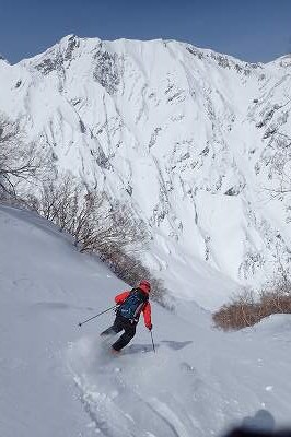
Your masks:
{"label": "clear deep blue sky above the mountain ridge", "polygon": [[0,0],[0,54],[11,63],[68,34],[178,39],[267,62],[291,51],[291,0]]}

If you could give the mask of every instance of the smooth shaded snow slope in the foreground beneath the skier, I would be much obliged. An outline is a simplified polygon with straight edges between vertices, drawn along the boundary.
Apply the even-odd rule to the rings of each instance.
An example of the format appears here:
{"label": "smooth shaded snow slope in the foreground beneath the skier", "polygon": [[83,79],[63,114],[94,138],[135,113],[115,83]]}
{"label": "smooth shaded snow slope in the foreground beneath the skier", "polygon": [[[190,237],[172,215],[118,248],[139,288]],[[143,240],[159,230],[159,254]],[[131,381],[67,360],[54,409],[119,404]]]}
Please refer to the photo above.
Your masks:
{"label": "smooth shaded snow slope in the foreground beneath the skier", "polygon": [[254,417],[291,426],[290,315],[225,334],[195,300],[177,298],[172,312],[153,303],[156,353],[140,321],[115,357],[98,336],[113,312],[78,322],[126,284],[10,206],[0,206],[0,253],[1,437],[209,437]]}

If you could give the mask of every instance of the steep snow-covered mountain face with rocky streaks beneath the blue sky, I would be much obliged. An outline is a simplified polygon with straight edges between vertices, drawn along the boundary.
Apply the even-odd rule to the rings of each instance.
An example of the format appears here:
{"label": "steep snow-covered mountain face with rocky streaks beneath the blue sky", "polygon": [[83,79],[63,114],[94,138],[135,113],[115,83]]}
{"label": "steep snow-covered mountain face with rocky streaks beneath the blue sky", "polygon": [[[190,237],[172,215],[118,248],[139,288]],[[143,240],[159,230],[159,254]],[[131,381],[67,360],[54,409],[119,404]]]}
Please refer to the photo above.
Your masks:
{"label": "steep snow-covered mountain face with rocky streaks beneath the blue sky", "polygon": [[174,40],[68,36],[0,64],[0,109],[58,169],[146,218],[147,262],[189,297],[200,274],[233,290],[290,260],[290,199],[269,191],[290,174],[290,57],[249,64]]}

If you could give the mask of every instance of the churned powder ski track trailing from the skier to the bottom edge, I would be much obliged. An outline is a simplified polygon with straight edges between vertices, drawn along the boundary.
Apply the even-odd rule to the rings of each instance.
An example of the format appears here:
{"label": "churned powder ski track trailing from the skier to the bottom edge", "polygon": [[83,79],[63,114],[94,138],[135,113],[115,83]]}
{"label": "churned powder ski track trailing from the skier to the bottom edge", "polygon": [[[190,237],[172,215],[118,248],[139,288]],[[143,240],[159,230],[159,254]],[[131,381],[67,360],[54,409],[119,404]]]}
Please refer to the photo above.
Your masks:
{"label": "churned powder ski track trailing from the skier to the bottom edge", "polygon": [[[90,357],[90,351],[97,353]],[[165,357],[155,356],[153,352],[147,357],[143,352],[132,355],[125,352],[118,357],[112,356],[108,347],[96,341],[90,344],[82,340],[81,344],[70,346],[70,370],[96,429],[116,437],[159,436],[161,432],[170,437],[188,435],[175,413],[148,393],[147,386],[151,380],[159,380]],[[78,367],[81,361],[86,364],[79,374],[73,366]]]}

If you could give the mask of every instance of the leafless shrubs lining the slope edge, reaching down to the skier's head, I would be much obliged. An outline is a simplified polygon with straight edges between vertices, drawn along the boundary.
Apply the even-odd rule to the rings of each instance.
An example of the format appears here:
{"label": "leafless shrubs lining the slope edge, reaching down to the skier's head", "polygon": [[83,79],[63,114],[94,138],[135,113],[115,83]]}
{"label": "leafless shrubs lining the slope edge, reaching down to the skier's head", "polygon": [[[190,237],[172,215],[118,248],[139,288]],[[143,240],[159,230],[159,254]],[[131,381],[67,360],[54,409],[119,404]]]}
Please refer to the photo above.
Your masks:
{"label": "leafless shrubs lining the slope edge, reaching down to the skier's head", "polygon": [[96,253],[129,285],[137,285],[141,277],[150,280],[153,298],[170,308],[163,282],[140,260],[150,238],[147,226],[127,205],[81,184],[70,173],[44,184],[37,196],[27,197],[26,205],[71,234],[81,252]]}

